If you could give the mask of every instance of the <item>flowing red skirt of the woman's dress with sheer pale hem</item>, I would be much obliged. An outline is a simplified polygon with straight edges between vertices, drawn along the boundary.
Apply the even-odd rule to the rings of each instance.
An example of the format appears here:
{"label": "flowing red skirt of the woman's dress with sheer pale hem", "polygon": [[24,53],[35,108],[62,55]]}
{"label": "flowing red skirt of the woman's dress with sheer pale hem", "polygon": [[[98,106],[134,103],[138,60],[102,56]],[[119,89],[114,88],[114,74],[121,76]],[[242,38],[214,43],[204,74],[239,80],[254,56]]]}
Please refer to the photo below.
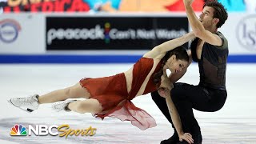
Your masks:
{"label": "flowing red skirt of the woman's dress with sheer pale hem", "polygon": [[130,121],[141,130],[156,126],[153,117],[131,102],[133,98],[127,92],[124,73],[104,78],[83,78],[82,87],[90,93],[90,98],[97,99],[102,105],[102,112],[94,114],[96,118],[112,117]]}

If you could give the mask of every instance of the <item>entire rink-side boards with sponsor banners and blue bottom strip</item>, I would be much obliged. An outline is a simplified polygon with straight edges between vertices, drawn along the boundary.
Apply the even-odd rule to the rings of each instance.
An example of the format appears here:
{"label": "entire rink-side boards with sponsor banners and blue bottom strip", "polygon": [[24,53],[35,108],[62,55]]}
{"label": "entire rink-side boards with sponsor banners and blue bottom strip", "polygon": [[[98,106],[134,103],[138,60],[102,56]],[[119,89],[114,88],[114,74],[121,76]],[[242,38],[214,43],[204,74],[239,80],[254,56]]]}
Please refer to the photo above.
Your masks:
{"label": "entire rink-side boards with sponsor banners and blue bottom strip", "polygon": [[[183,16],[172,14],[173,18],[166,15],[131,17],[119,14],[114,17],[103,14],[72,14],[71,17],[69,14],[67,17],[67,14],[2,14],[0,61],[136,62],[158,43],[185,34],[187,26],[183,24],[187,20]],[[229,14],[219,31],[229,41],[229,62],[256,62],[255,14]],[[143,53],[138,53],[139,50]],[[77,57],[76,54],[86,55]],[[101,59],[102,54],[105,57]],[[58,62],[56,58],[59,58]]]}

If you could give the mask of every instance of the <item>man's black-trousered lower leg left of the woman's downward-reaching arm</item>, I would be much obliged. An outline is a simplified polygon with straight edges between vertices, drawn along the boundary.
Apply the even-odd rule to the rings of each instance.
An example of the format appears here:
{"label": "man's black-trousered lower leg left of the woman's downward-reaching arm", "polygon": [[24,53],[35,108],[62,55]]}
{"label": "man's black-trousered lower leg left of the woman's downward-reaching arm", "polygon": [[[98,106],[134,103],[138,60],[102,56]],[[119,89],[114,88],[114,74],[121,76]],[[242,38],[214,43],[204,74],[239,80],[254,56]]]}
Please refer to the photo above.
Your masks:
{"label": "man's black-trousered lower leg left of the woman's downward-reaching arm", "polygon": [[[155,104],[158,106],[158,108],[162,111],[162,114],[166,116],[168,121],[171,123],[171,126],[174,128],[174,124],[171,120],[170,113],[166,104],[166,98],[162,98],[159,94],[158,91],[154,91],[151,93],[152,99],[154,100]],[[174,135],[170,137],[169,139],[163,140],[161,144],[164,143],[175,143],[178,142],[178,133],[174,128]]]}

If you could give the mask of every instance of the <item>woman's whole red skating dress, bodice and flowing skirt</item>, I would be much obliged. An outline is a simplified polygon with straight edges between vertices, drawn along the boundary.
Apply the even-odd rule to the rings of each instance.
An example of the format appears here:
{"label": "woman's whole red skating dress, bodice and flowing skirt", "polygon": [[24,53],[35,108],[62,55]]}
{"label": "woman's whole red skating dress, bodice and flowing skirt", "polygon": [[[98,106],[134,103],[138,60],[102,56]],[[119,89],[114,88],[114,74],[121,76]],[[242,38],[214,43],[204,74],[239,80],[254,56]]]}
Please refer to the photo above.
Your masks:
{"label": "woman's whole red skating dress, bodice and flowing skirt", "polygon": [[[127,92],[125,74],[116,74],[104,78],[83,78],[82,87],[90,93],[90,98],[97,99],[102,104],[102,113],[95,114],[97,118],[113,117],[122,121],[130,121],[141,130],[156,126],[154,118],[145,110],[134,106],[131,100],[138,94],[142,83],[154,65],[152,58],[141,58],[134,64],[133,80],[130,93]],[[153,75],[161,69],[162,61],[150,76],[143,94],[157,90],[153,82]]]}

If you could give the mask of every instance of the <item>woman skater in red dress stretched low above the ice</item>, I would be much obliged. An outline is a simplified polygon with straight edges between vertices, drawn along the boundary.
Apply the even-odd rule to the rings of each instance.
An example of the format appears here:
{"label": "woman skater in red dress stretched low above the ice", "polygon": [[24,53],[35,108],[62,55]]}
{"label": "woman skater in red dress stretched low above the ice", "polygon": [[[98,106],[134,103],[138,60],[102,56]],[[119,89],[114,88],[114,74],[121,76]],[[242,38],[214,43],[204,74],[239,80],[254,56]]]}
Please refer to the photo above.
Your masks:
{"label": "woman skater in red dress stretched low above the ice", "polygon": [[[145,110],[134,106],[131,100],[161,89],[159,91],[162,91],[161,95],[166,97],[179,138],[192,142],[192,136],[188,133],[184,134],[179,115],[170,99],[173,85],[166,74],[167,69],[174,74],[189,65],[189,56],[181,46],[192,39],[194,39],[193,32],[155,46],[124,73],[104,78],[83,78],[66,89],[55,90],[41,96],[36,94],[29,98],[11,98],[9,102],[29,112],[38,109],[40,104],[55,102],[54,110],[92,113],[102,119],[119,118],[145,130],[156,126],[156,122]],[[86,98],[86,100],[68,98]]]}

